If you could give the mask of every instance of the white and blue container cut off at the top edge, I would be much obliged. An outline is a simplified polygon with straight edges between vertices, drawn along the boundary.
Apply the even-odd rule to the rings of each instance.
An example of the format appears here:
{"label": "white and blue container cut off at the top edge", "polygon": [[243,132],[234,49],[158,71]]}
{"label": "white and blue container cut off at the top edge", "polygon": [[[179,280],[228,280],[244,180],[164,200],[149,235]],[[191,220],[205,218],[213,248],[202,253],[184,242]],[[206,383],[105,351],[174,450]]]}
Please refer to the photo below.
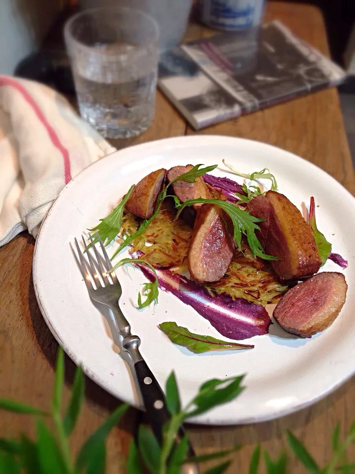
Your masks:
{"label": "white and blue container cut off at the top edge", "polygon": [[245,30],[260,25],[264,4],[264,0],[200,0],[200,19],[218,30]]}

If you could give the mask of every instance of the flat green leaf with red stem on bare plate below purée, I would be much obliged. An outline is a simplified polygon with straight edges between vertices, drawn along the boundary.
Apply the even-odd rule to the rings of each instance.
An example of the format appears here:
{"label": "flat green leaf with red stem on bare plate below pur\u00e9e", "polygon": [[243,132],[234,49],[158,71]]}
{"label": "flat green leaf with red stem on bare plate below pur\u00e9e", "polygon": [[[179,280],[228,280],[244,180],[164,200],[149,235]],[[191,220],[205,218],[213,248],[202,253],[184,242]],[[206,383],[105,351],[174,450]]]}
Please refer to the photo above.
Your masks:
{"label": "flat green leaf with red stem on bare plate below pur\u00e9e", "polygon": [[228,351],[235,349],[252,349],[254,346],[230,341],[221,341],[212,336],[194,334],[186,327],[178,326],[174,321],[161,322],[158,326],[169,339],[179,346],[186,347],[195,354],[209,351]]}

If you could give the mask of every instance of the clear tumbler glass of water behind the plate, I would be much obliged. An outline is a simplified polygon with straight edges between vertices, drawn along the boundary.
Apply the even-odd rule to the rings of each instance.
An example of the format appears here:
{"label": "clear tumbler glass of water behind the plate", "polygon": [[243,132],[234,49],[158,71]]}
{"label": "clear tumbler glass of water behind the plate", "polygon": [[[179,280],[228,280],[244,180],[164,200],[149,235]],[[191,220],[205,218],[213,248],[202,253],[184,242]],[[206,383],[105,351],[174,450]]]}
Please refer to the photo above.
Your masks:
{"label": "clear tumbler glass of water behind the plate", "polygon": [[81,116],[105,138],[146,130],[154,117],[156,21],[130,8],[95,8],[69,19],[64,36]]}

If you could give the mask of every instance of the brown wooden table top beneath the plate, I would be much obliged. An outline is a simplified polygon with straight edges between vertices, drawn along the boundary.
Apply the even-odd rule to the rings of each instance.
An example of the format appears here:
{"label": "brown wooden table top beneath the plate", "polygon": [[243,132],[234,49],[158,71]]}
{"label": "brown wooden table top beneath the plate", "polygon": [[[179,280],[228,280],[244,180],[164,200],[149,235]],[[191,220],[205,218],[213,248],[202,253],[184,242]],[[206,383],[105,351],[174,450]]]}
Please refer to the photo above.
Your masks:
{"label": "brown wooden table top beneath the plate", "polygon": [[[305,4],[269,2],[265,20],[274,18],[279,18],[296,35],[328,54],[318,9]],[[209,34],[211,32],[200,25],[190,25],[186,39]],[[193,131],[158,92],[154,123],[133,143],[193,133],[246,137],[276,145],[317,164],[355,194],[354,169],[334,88],[199,132]],[[119,144],[120,147],[123,145]],[[0,248],[0,396],[47,407],[57,343],[36,302],[32,282],[33,251],[34,239],[27,233]],[[65,399],[68,399],[74,371],[74,364],[68,357],[66,368]],[[230,473],[248,472],[250,454],[256,443],[261,442],[272,456],[279,453],[286,446],[286,429],[299,436],[322,465],[331,454],[330,433],[337,421],[341,420],[345,434],[346,428],[355,420],[354,400],[352,379],[312,407],[278,420],[234,427],[191,426],[188,432],[198,453],[243,444],[244,448],[233,456]],[[82,416],[71,437],[74,452],[118,404],[118,400],[86,379]],[[120,426],[109,435],[107,473],[125,472],[128,445],[138,418],[139,412],[131,408]],[[1,413],[0,436],[16,435],[20,430],[34,433],[31,417]],[[293,456],[289,458],[288,471],[304,472]]]}

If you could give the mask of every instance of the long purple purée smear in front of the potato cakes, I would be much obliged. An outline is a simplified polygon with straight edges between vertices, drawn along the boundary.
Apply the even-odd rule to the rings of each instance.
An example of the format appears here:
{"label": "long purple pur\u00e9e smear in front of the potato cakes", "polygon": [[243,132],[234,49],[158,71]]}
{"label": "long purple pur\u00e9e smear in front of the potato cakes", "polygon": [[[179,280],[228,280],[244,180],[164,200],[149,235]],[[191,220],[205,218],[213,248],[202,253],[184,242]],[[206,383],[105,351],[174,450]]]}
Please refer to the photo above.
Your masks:
{"label": "long purple pur\u00e9e smear in front of the potato cakes", "polygon": [[[153,272],[140,265],[143,274],[154,281]],[[212,297],[202,286],[170,270],[157,271],[159,287],[169,291],[201,316],[225,337],[240,341],[269,332],[270,316],[261,305],[254,305],[243,298],[233,301],[230,296]]]}

